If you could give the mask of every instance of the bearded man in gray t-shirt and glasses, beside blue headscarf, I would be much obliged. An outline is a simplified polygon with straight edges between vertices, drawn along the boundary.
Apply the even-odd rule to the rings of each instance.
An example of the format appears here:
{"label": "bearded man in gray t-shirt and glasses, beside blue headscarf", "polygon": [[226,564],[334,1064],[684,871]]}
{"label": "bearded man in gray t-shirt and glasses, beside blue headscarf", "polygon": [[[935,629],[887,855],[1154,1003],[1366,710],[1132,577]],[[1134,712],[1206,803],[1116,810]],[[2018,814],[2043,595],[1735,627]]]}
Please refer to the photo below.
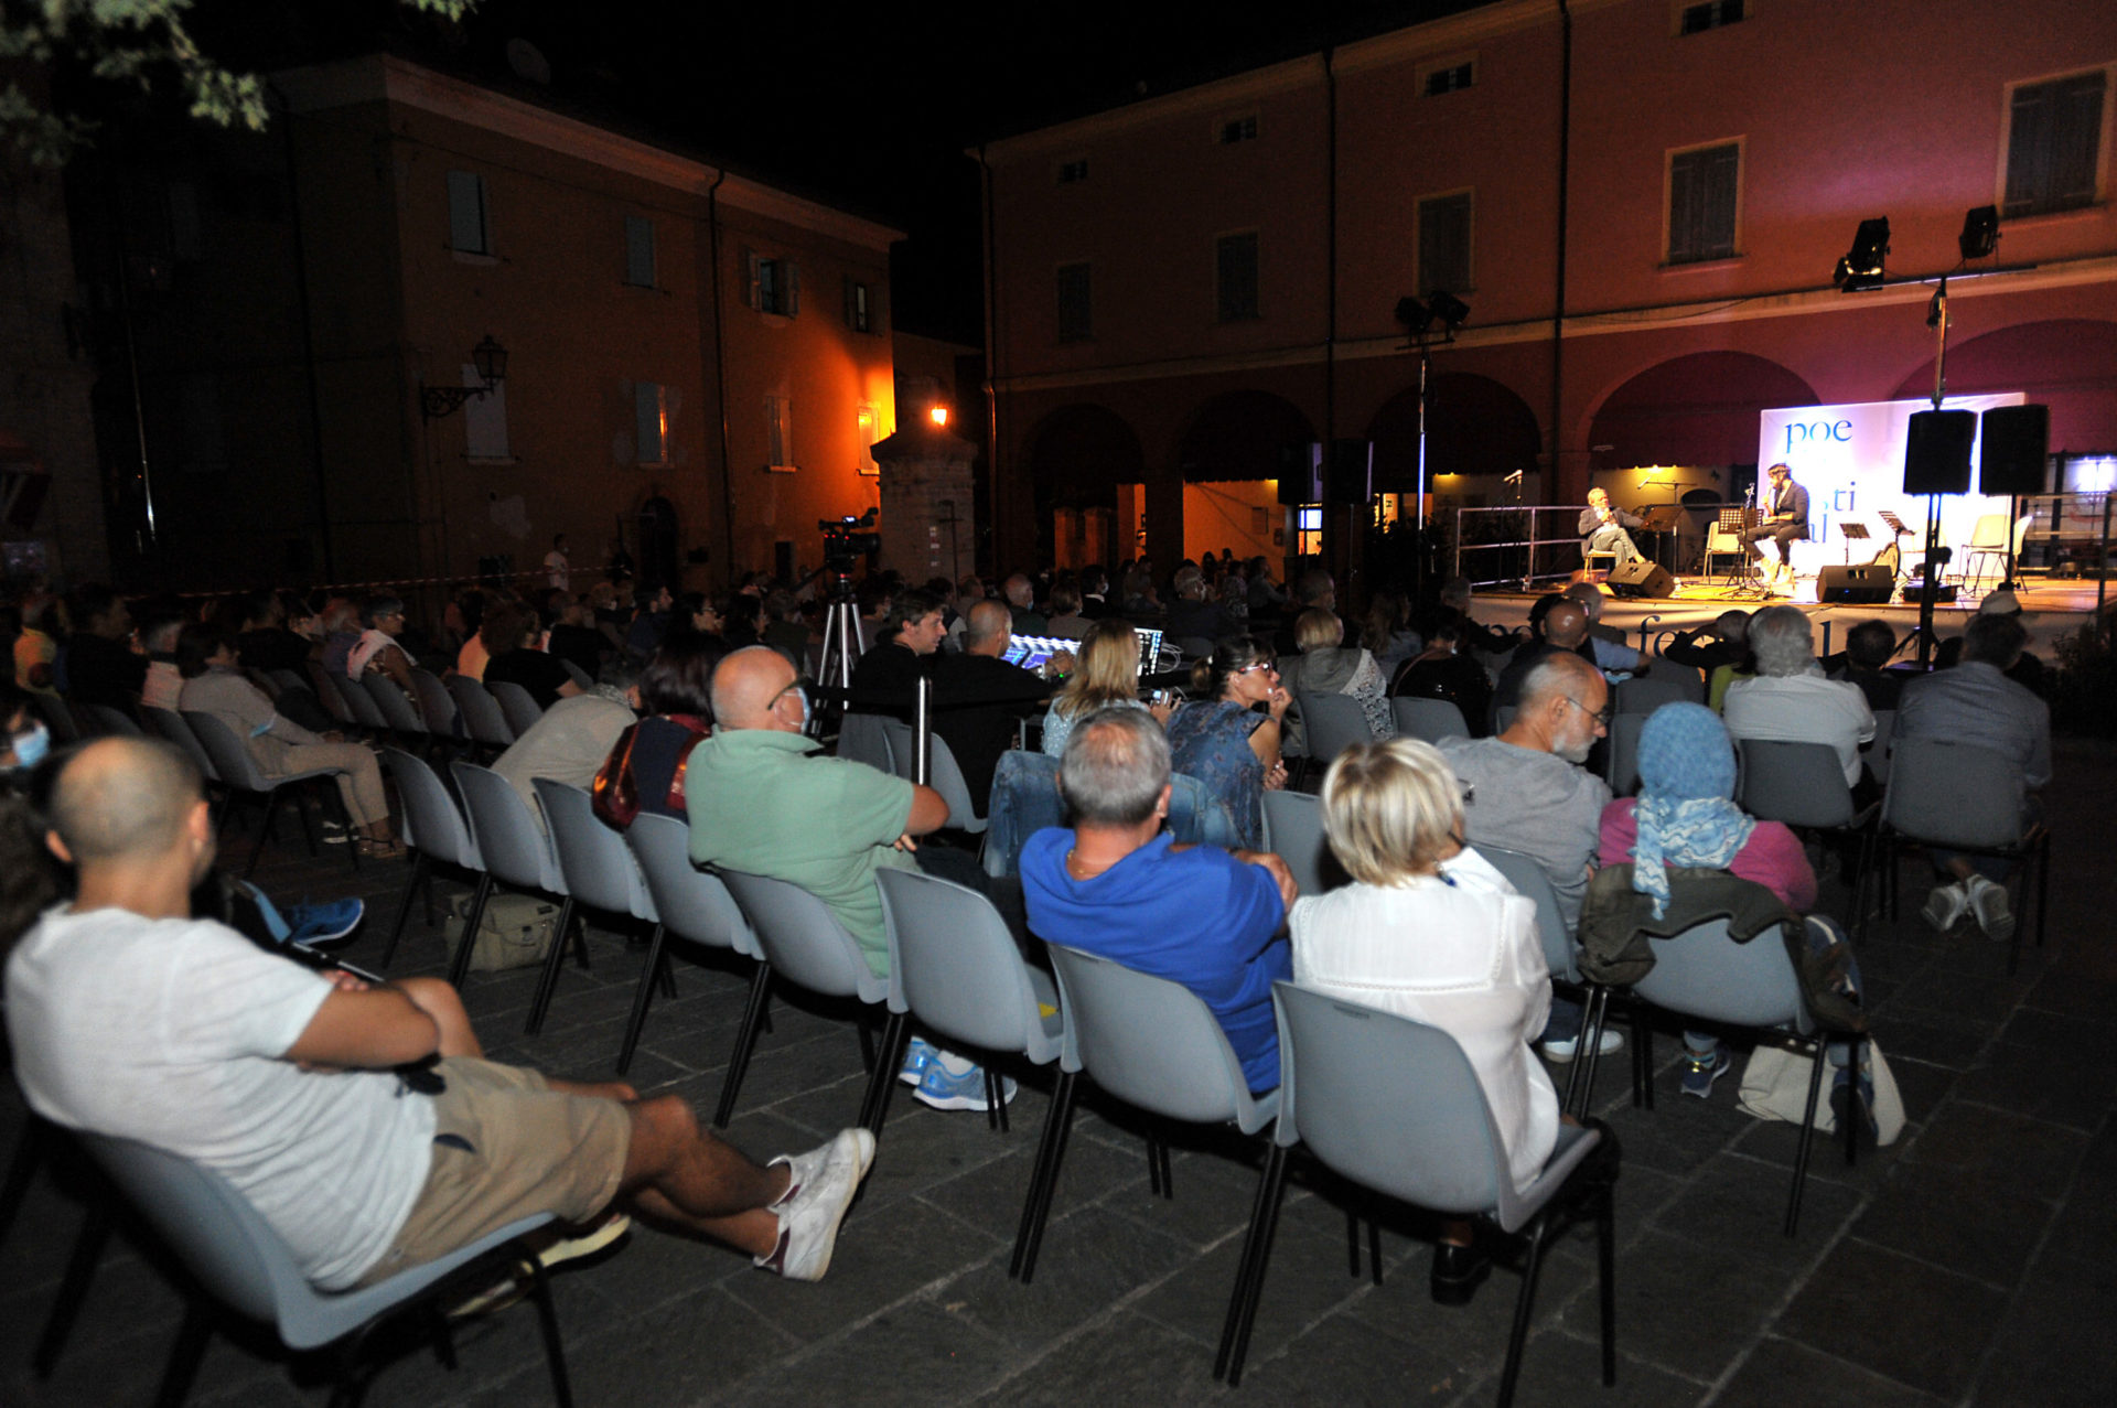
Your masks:
{"label": "bearded man in gray t-shirt and glasses, beside blue headscarf", "polygon": [[[1579,614],[1577,606],[1569,603],[1569,610]],[[1522,703],[1505,733],[1440,743],[1463,783],[1463,838],[1535,858],[1558,893],[1569,936],[1579,929],[1603,807],[1609,805],[1609,786],[1581,764],[1607,733],[1609,709],[1603,671],[1558,650],[1522,678]],[[1543,1054],[1571,1061],[1579,1050],[1579,1004],[1554,997]],[[1624,1037],[1605,1029],[1598,1054],[1622,1046]]]}

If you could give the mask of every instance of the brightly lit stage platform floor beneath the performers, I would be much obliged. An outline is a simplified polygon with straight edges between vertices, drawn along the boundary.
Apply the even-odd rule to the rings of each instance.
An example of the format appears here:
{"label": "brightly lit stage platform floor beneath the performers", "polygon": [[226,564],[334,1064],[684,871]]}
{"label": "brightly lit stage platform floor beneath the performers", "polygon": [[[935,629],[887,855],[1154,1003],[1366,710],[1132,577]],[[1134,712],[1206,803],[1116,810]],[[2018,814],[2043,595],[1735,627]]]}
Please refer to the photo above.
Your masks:
{"label": "brightly lit stage platform floor beneath the performers", "polygon": [[[1560,586],[1564,586],[1564,582],[1552,582],[1533,593],[1480,586],[1471,616],[1486,625],[1524,625],[1528,620],[1528,608],[1535,599],[1548,591],[1558,591]],[[2022,625],[2028,629],[2030,639],[2028,648],[2045,661],[2051,661],[2058,637],[2070,635],[2094,620],[2096,591],[2100,586],[2102,584],[2094,580],[2060,580],[2043,576],[2018,582],[2015,597],[2022,603]],[[1935,633],[1943,639],[1960,635],[1962,625],[1977,610],[1979,599],[1982,597],[1960,593],[1956,601],[1935,603]],[[2117,582],[2111,584],[2106,599],[2117,603]],[[1689,631],[1691,627],[1713,620],[1725,610],[1755,612],[1766,606],[1797,606],[1808,612],[1810,620],[1816,622],[1819,650],[1823,650],[1825,639],[1829,639],[1829,650],[1842,650],[1844,633],[1861,620],[1886,620],[1897,631],[1899,639],[1907,637],[1912,627],[1918,625],[1916,597],[1910,603],[1897,599],[1886,606],[1825,603],[1816,601],[1814,578],[1802,578],[1795,593],[1787,597],[1738,593],[1727,589],[1721,578],[1700,576],[1677,578],[1677,591],[1670,597],[1605,597],[1603,622],[1617,627],[1626,635],[1634,635],[1645,629],[1649,633],[1649,644],[1653,644],[1664,631]]]}

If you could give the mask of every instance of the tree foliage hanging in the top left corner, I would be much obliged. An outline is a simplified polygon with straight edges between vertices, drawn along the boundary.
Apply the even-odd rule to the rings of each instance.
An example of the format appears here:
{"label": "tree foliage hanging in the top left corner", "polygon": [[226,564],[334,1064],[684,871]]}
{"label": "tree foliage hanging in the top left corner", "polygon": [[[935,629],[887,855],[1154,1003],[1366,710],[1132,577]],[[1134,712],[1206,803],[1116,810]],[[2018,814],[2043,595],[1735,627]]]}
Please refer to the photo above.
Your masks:
{"label": "tree foliage hanging in the top left corner", "polygon": [[[398,0],[462,19],[476,0]],[[256,74],[233,72],[201,51],[184,19],[191,0],[0,0],[0,64],[51,74],[59,66],[95,83],[150,91],[174,83],[193,119],[263,131],[269,108]],[[95,136],[95,123],[47,104],[21,74],[0,80],[0,142],[36,165],[64,165]]]}

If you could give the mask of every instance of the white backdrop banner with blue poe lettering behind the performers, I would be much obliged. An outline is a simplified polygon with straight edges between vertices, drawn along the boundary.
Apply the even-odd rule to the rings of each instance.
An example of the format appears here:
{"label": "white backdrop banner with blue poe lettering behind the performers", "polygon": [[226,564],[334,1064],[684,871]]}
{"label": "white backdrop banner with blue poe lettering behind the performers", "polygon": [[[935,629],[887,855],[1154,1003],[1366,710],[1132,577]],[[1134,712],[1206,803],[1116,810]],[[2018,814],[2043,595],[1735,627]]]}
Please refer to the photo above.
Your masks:
{"label": "white backdrop banner with blue poe lettering behind the performers", "polygon": [[[1943,411],[1990,411],[2018,407],[2022,392],[2001,396],[1950,396]],[[1865,561],[1888,546],[1890,531],[1878,510],[1888,508],[1912,529],[1907,553],[1922,548],[1918,534],[1926,527],[1926,500],[1903,491],[1903,443],[1910,438],[1912,413],[1931,411],[1931,400],[1863,400],[1844,407],[1787,407],[1757,417],[1757,485],[1763,470],[1787,464],[1793,479],[1808,489],[1808,531],[1823,544],[1825,561],[1844,561],[1840,525],[1861,523],[1871,534],[1867,544],[1852,544],[1852,561]],[[1982,426],[1979,426],[1982,430]],[[1971,487],[1977,487],[1977,451],[1971,447]],[[1941,495],[1941,542],[1960,546],[1971,540],[1977,515],[2007,512],[2005,498],[1979,493]]]}

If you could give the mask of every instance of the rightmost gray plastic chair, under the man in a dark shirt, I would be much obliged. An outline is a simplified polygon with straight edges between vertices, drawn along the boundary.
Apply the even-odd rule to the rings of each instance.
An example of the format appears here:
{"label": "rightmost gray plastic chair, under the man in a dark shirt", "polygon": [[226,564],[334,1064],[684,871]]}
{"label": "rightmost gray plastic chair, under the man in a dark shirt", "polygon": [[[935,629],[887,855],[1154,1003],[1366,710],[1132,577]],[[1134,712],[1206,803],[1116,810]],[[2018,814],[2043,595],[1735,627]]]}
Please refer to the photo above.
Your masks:
{"label": "rightmost gray plastic chair, under the man in a dark shirt", "polygon": [[[2051,832],[2022,819],[2022,769],[2001,752],[1943,739],[1895,739],[1882,794],[1882,898],[1897,913],[1897,858],[1905,843],[1967,855],[1996,855],[2037,872],[2037,946],[2049,908]],[[2028,896],[2024,870],[2022,896]],[[1865,896],[1861,896],[1865,900]],[[2026,906],[2024,906],[2026,908]],[[2026,913],[2015,910],[2007,972],[2022,957]]]}

